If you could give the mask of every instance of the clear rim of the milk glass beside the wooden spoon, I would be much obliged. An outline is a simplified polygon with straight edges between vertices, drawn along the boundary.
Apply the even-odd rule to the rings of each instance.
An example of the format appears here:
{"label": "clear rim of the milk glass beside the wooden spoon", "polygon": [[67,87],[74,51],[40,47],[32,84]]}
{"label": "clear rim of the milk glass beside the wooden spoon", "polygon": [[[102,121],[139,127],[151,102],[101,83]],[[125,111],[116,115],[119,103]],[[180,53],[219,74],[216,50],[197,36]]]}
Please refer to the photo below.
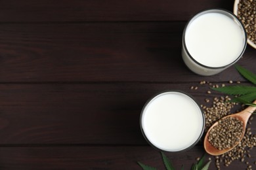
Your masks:
{"label": "clear rim of the milk glass beside the wooden spoon", "polygon": [[[161,95],[163,93],[168,93],[168,92],[177,92],[177,93],[182,93],[183,95],[186,95],[186,97],[189,97],[190,99],[192,99],[192,101],[194,101],[194,103],[198,106],[198,109],[200,110],[200,113],[202,114],[202,129],[201,129],[200,135],[198,135],[198,138],[196,139],[196,141],[194,141],[194,143],[190,144],[190,146],[188,146],[186,148],[183,148],[181,150],[171,151],[171,150],[164,150],[162,148],[158,148],[158,146],[156,146],[156,145],[154,145],[153,143],[150,142],[150,140],[146,136],[146,133],[144,132],[144,129],[142,127],[142,115],[144,114],[144,110],[148,106],[148,103],[150,103],[150,101],[152,101],[153,99],[158,97],[158,95]],[[184,152],[186,150],[190,150],[192,147],[194,147],[200,141],[200,139],[203,136],[204,129],[205,129],[205,116],[203,114],[202,107],[200,107],[200,105],[198,104],[198,101],[192,95],[190,95],[189,93],[183,92],[181,90],[165,90],[165,91],[161,91],[159,93],[156,93],[155,95],[150,97],[150,99],[148,99],[148,101],[146,101],[146,103],[144,104],[144,107],[142,108],[142,110],[140,112],[140,131],[142,132],[142,135],[143,135],[144,139],[146,139],[146,141],[148,142],[148,144],[150,144],[150,146],[152,146],[153,148],[155,148],[156,150],[159,150],[161,152],[179,153],[179,152]]]}

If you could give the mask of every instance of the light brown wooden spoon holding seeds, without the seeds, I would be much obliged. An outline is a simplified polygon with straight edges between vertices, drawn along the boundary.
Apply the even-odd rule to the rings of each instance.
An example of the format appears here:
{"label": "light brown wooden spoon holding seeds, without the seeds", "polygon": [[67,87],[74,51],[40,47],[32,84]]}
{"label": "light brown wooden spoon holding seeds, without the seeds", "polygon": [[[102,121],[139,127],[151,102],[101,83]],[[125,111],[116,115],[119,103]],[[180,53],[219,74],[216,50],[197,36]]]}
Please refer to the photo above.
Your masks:
{"label": "light brown wooden spoon holding seeds, without the seeds", "polygon": [[[256,100],[253,102],[253,104],[256,104]],[[230,115],[224,117],[224,118],[234,117],[234,118],[238,118],[240,121],[244,122],[244,124],[243,124],[243,133],[242,133],[242,137],[241,137],[240,141],[242,141],[242,139],[244,137],[247,121],[248,121],[249,117],[251,116],[251,114],[255,110],[256,110],[256,107],[249,106],[246,109],[242,110],[241,112],[238,112],[236,114],[230,114]],[[222,119],[224,119],[224,118],[222,118]],[[232,150],[232,148],[236,147],[236,145],[238,145],[238,143],[240,143],[240,141],[238,141],[238,143],[236,143],[231,148],[226,148],[226,149],[223,149],[223,150],[219,150],[219,149],[215,148],[213,145],[211,145],[211,143],[209,143],[209,141],[208,141],[209,131],[211,131],[211,129],[213,127],[217,126],[218,124],[219,124],[219,122],[215,122],[215,124],[213,124],[209,128],[209,130],[207,131],[207,133],[205,135],[204,141],[203,141],[205,151],[208,154],[211,154],[213,156],[218,156],[218,155],[224,154],[224,153]]]}

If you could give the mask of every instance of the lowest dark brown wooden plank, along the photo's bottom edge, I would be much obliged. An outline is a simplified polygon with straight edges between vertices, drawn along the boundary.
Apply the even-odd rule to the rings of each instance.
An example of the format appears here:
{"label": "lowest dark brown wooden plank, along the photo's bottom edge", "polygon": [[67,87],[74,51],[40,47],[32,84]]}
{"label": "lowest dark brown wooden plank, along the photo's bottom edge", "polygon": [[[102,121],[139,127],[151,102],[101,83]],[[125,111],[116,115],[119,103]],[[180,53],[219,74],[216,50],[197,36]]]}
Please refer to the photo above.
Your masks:
{"label": "lowest dark brown wooden plank, along the photo's bottom edge", "polygon": [[[187,152],[165,154],[175,169],[190,169],[196,158],[202,157],[202,146],[195,146]],[[205,162],[210,156],[206,155]],[[140,161],[146,165],[165,169],[160,152],[150,146],[58,146],[58,147],[0,147],[1,169],[141,169]],[[251,150],[250,165],[256,158],[255,150]],[[209,170],[216,169],[215,160]],[[229,167],[221,169],[246,169],[247,165],[239,160],[233,161]]]}

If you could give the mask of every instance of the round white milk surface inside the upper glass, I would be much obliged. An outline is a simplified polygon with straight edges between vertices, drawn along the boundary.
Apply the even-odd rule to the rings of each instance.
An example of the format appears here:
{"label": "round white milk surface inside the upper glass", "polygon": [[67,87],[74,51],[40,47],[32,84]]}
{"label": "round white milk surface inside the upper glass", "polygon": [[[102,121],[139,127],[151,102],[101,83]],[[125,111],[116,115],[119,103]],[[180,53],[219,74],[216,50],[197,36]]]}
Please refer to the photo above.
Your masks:
{"label": "round white milk surface inside the upper glass", "polygon": [[188,24],[185,43],[192,58],[202,65],[223,67],[240,56],[245,36],[237,21],[211,12]]}

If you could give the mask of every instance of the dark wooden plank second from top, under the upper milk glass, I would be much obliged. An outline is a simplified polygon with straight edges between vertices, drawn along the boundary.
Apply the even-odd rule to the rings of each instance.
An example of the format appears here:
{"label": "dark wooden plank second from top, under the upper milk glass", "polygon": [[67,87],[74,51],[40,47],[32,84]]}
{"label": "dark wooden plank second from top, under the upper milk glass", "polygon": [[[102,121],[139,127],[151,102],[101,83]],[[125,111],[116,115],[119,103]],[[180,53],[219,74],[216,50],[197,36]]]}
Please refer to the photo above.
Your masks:
{"label": "dark wooden plank second from top, under the upper milk glass", "polygon": [[[181,58],[185,24],[2,24],[0,82],[199,81]],[[255,54],[239,62],[254,73]],[[209,80],[244,79],[231,67]]]}

